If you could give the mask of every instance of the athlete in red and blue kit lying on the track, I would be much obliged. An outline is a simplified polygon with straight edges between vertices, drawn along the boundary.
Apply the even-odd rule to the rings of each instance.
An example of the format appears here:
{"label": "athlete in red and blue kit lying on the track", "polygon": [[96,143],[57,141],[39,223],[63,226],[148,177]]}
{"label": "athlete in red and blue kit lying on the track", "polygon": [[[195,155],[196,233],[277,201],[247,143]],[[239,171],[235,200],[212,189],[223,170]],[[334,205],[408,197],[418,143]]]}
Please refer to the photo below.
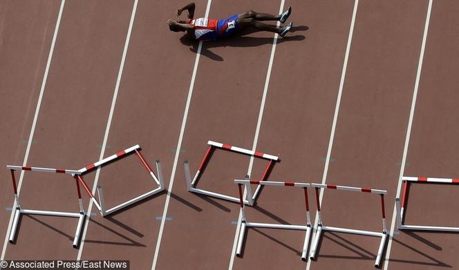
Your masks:
{"label": "athlete in red and blue kit lying on the track", "polygon": [[277,26],[270,26],[269,24],[261,22],[280,21],[281,23],[285,23],[292,12],[291,7],[281,15],[270,15],[250,10],[239,15],[233,15],[227,19],[218,20],[207,18],[194,19],[194,8],[194,3],[189,3],[187,6],[179,8],[177,10],[177,16],[180,16],[184,10],[187,10],[187,20],[171,21],[169,19],[169,21],[167,21],[169,29],[174,32],[187,32],[186,35],[191,39],[217,41],[218,39],[229,37],[243,28],[255,28],[256,30],[275,32],[283,37],[290,28],[292,28],[293,24],[290,22],[282,28],[277,28]]}

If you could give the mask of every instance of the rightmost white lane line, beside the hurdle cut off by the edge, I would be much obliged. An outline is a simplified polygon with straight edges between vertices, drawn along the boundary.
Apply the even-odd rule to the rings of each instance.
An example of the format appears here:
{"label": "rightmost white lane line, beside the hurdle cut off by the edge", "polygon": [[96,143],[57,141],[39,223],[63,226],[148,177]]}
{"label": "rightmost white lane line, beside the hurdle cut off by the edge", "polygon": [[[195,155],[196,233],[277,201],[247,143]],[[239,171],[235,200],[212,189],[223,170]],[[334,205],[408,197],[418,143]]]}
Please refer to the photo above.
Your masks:
{"label": "rightmost white lane line, beside the hurdle cut off by the edge", "polygon": [[[420,81],[421,71],[422,71],[422,61],[424,60],[424,51],[426,48],[427,33],[429,32],[429,22],[430,22],[431,10],[432,10],[432,3],[433,3],[433,0],[429,0],[429,7],[427,8],[426,22],[424,24],[424,35],[422,36],[421,52],[419,55],[418,71],[416,73],[416,81],[414,84],[413,99],[411,101],[410,117],[408,121],[408,127],[406,128],[406,137],[405,137],[405,146],[403,148],[402,166],[400,166],[400,175],[398,176],[396,194],[400,194],[400,189],[402,189],[402,177],[404,174],[404,169],[405,169],[405,164],[406,164],[406,155],[408,153],[408,146],[409,146],[409,141],[411,137],[411,126],[413,124],[416,99],[418,97],[419,81]],[[395,215],[397,215],[397,210],[395,209],[395,204],[394,204],[393,213],[392,213],[391,230],[389,231],[389,240],[388,240],[387,249],[386,249],[386,258],[384,258],[384,270],[387,270],[387,267],[389,264],[389,258],[391,257],[393,231],[395,229],[395,220],[396,220]]]}

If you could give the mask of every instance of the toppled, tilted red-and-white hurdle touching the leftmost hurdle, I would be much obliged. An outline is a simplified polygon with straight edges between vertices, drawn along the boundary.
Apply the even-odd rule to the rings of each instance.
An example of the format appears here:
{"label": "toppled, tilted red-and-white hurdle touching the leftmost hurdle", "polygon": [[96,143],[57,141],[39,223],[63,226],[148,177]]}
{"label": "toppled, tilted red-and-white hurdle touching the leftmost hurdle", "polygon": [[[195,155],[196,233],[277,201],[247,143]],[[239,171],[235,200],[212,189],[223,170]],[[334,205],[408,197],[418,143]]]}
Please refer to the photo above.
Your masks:
{"label": "toppled, tilted red-and-white hurdle touching the leftmost hurdle", "polygon": [[[76,175],[77,180],[79,180],[79,182],[83,185],[84,189],[86,190],[86,193],[88,193],[89,197],[91,197],[91,200],[93,201],[97,209],[99,209],[100,214],[103,217],[105,217],[106,215],[115,213],[116,211],[120,211],[121,209],[124,209],[127,206],[130,206],[131,204],[135,204],[135,202],[139,202],[141,200],[146,199],[147,197],[151,197],[152,195],[155,195],[165,190],[165,184],[164,184],[164,180],[162,177],[162,167],[161,167],[160,161],[156,160],[156,170],[158,172],[158,177],[156,177],[155,173],[153,173],[153,170],[149,166],[147,160],[145,160],[142,153],[140,153],[140,150],[141,150],[140,145],[136,144],[135,146],[131,146],[114,155],[106,157],[103,160],[100,160],[93,164],[89,164],[88,166],[85,166],[84,168],[79,169],[78,171],[79,174]],[[133,199],[128,200],[127,202],[123,202],[122,204],[113,206],[110,209],[106,209],[105,203],[104,203],[104,193],[102,190],[102,186],[100,185],[97,186],[97,195],[99,197],[99,202],[97,202],[97,200],[95,199],[95,195],[91,192],[91,189],[89,189],[86,182],[84,182],[83,175],[86,175],[86,173],[90,173],[96,168],[101,168],[102,166],[111,164],[112,162],[115,162],[116,160],[119,160],[120,158],[126,157],[127,155],[131,155],[131,154],[135,154],[138,156],[140,162],[147,169],[149,175],[151,175],[151,178],[153,178],[153,181],[158,185],[158,187],[156,187],[156,189],[148,191],[147,193],[134,197]]]}

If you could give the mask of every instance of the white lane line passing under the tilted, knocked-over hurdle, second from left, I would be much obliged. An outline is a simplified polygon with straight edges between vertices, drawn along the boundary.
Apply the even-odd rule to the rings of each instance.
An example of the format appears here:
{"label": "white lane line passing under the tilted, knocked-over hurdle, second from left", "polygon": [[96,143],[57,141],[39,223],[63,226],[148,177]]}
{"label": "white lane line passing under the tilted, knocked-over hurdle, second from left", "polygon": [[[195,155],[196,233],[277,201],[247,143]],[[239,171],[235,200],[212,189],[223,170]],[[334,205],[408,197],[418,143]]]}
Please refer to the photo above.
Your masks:
{"label": "white lane line passing under the tilted, knocked-over hurdle, second from left", "polygon": [[[120,82],[121,82],[121,77],[122,77],[123,69],[124,69],[124,60],[126,60],[127,48],[129,47],[129,39],[131,39],[132,26],[134,24],[135,10],[137,10],[137,3],[138,3],[138,0],[135,0],[133,8],[132,8],[131,21],[129,21],[129,30],[127,31],[126,42],[124,43],[124,50],[123,50],[123,54],[121,57],[120,70],[118,71],[118,78],[116,79],[115,91],[113,93],[113,99],[111,100],[109,119],[107,120],[106,127],[105,127],[104,142],[102,143],[102,149],[100,151],[99,160],[102,160],[104,158],[106,142],[109,139],[111,119],[113,118],[113,112],[115,111],[116,98],[118,97],[118,90],[120,89]],[[95,193],[95,189],[97,188],[97,182],[99,182],[99,175],[100,175],[100,168],[97,168],[97,171],[95,172],[95,179],[94,179],[94,184],[93,184],[93,191],[92,191],[93,194]],[[88,220],[86,220],[84,224],[84,230],[83,230],[81,242],[79,244],[77,260],[80,260],[82,258],[82,253],[83,253],[83,248],[84,248],[84,239],[86,238],[86,232],[88,231],[88,224],[91,221],[91,215],[89,215],[88,213],[91,213],[92,209],[93,209],[93,200],[89,200],[88,211],[86,211],[86,217]]]}

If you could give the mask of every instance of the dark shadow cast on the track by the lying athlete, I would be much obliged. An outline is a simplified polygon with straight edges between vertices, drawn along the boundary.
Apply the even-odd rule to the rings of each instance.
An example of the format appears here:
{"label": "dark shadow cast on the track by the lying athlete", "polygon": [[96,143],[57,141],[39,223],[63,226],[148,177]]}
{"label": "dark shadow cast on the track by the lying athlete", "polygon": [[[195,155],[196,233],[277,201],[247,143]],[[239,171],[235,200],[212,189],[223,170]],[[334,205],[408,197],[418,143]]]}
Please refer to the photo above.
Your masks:
{"label": "dark shadow cast on the track by the lying athlete", "polygon": [[[308,30],[308,26],[294,26],[290,30],[290,33],[283,37],[277,39],[277,44],[282,44],[284,42],[289,42],[289,41],[302,41],[306,39],[305,36],[303,35],[292,35],[293,32],[299,32],[299,31],[306,31]],[[247,37],[247,35],[252,34],[253,32],[257,32],[257,30],[252,30],[252,29],[245,29],[242,32],[238,33],[238,35],[235,35],[233,37],[229,37],[228,39],[222,39],[217,42],[213,41],[207,41],[203,43],[203,47],[201,48],[200,54],[209,57],[212,60],[215,61],[223,61],[223,57],[220,55],[217,55],[216,53],[212,52],[212,50],[209,50],[211,48],[216,48],[216,47],[256,47],[256,46],[262,46],[265,44],[272,44],[273,38],[272,37]],[[191,40],[187,38],[186,36],[180,37],[180,42],[182,42],[183,45],[191,46],[189,50],[191,52],[198,52],[198,44],[199,42],[196,40]]]}

